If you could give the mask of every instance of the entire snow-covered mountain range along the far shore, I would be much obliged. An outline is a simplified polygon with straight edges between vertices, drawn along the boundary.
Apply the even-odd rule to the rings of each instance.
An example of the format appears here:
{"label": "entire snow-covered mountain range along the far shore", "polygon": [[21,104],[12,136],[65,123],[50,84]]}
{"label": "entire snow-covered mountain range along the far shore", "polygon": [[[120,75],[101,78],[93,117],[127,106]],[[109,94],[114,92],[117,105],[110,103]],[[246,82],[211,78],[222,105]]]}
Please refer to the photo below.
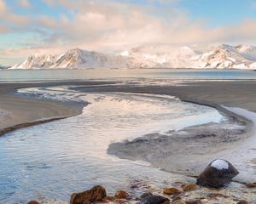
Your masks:
{"label": "entire snow-covered mountain range along the far shore", "polygon": [[61,55],[32,54],[10,69],[33,68],[256,69],[256,48],[250,45],[227,44],[207,48],[162,44],[129,48],[115,54],[74,48]]}

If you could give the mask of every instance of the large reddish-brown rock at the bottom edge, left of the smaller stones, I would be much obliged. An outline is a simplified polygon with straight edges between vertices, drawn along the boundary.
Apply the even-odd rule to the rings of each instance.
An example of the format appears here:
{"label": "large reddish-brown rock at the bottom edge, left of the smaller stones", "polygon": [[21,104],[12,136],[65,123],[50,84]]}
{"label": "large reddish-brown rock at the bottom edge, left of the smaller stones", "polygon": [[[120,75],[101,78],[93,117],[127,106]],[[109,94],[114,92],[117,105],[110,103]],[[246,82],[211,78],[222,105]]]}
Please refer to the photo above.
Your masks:
{"label": "large reddish-brown rock at the bottom edge, left of the smaller stones", "polygon": [[70,198],[70,203],[90,204],[96,201],[102,201],[106,196],[106,190],[101,185],[96,185],[90,190],[81,193],[73,193]]}

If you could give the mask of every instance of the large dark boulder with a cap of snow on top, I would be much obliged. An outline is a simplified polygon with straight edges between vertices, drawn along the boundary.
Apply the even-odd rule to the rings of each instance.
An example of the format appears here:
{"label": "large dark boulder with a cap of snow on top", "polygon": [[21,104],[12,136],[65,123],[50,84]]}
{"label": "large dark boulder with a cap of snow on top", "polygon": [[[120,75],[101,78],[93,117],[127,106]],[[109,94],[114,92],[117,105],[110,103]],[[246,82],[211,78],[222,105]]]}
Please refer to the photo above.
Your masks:
{"label": "large dark boulder with a cap of snow on top", "polygon": [[238,173],[239,172],[229,161],[215,160],[200,174],[196,184],[212,188],[221,188],[229,184],[231,179]]}

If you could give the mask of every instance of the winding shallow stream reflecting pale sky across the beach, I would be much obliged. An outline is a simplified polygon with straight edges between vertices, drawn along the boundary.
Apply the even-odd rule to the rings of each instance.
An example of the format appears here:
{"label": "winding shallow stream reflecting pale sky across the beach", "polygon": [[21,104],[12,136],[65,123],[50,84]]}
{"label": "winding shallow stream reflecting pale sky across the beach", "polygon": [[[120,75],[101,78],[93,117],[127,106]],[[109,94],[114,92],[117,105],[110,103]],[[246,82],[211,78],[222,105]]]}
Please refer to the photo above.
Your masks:
{"label": "winding shallow stream reflecting pale sky across the beach", "polygon": [[27,127],[0,138],[0,203],[25,203],[38,195],[67,200],[72,192],[94,184],[108,186],[108,192],[113,193],[128,190],[134,179],[148,179],[148,184],[158,186],[165,180],[181,179],[144,162],[108,156],[108,144],[225,119],[210,107],[165,96],[81,94],[67,88],[25,91],[90,104],[80,116]]}

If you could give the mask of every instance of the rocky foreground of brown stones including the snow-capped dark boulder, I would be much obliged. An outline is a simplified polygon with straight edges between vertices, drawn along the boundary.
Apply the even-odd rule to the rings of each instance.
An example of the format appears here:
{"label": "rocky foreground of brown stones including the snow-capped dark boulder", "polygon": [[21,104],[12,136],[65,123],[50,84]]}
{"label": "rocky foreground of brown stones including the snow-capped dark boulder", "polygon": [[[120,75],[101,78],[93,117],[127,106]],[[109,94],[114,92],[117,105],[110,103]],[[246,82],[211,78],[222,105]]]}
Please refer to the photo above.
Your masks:
{"label": "rocky foreground of brown stones including the snow-capped dark boulder", "polygon": [[[127,203],[127,204],[247,204],[256,203],[256,183],[241,185],[246,197],[239,197],[228,186],[231,179],[239,172],[229,162],[224,160],[212,161],[204,172],[197,178],[196,183],[185,184],[176,182],[163,190],[145,190],[143,195],[132,197],[125,190],[116,191],[115,195],[107,195],[107,191],[101,185],[96,185],[90,190],[73,193],[69,203]],[[136,189],[135,184],[132,188]],[[247,191],[249,190],[249,191]],[[254,191],[253,191],[254,190]],[[247,194],[248,192],[248,194]],[[251,195],[249,195],[251,194]],[[55,200],[29,201],[27,204],[66,204]]]}

